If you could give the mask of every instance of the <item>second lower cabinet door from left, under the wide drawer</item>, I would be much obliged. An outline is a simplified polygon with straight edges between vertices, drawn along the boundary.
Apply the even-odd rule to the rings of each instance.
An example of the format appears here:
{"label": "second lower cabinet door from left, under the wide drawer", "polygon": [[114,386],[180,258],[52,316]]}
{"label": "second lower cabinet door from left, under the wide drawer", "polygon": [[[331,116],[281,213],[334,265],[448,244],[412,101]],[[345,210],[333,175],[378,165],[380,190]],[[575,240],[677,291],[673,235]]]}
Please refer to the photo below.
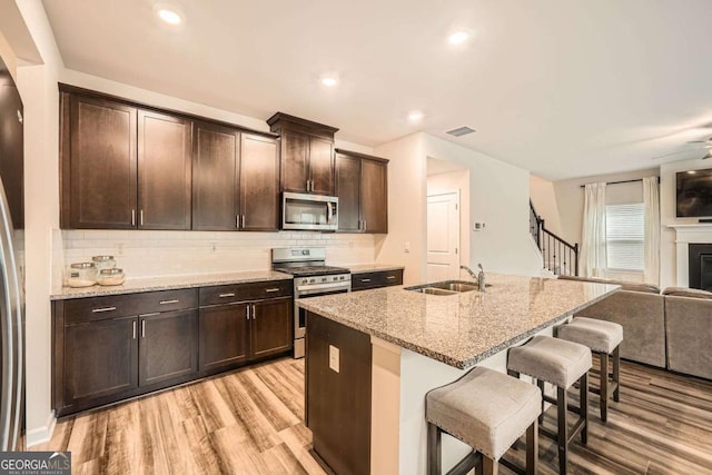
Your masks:
{"label": "second lower cabinet door from left, under the wide drawer", "polygon": [[139,386],[186,379],[198,370],[197,311],[178,310],[139,318]]}

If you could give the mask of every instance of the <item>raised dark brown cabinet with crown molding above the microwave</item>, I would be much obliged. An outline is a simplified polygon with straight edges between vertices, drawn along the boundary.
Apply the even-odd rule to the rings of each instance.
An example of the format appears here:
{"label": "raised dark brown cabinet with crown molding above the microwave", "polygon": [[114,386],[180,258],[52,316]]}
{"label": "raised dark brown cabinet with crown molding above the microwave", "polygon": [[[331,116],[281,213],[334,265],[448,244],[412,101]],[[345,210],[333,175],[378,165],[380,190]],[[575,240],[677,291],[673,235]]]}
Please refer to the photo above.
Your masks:
{"label": "raised dark brown cabinet with crown molding above the microwave", "polygon": [[267,123],[281,139],[281,191],[335,195],[334,133],[338,129],[283,112]]}

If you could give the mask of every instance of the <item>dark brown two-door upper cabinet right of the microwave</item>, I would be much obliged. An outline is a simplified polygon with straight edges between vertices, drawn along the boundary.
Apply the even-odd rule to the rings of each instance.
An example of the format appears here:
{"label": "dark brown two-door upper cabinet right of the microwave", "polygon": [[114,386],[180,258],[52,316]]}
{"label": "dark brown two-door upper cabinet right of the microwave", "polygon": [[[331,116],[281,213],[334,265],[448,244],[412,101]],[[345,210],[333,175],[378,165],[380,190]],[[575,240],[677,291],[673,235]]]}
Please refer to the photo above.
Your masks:
{"label": "dark brown two-door upper cabinet right of the microwave", "polygon": [[336,150],[338,230],[388,232],[388,160]]}

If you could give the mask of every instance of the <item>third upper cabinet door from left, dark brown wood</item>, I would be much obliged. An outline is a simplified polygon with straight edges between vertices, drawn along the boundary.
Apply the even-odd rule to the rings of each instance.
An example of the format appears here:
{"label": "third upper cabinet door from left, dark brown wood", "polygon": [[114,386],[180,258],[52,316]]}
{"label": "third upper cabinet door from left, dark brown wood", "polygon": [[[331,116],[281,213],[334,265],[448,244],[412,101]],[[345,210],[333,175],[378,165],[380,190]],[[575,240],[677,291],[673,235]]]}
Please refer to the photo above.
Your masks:
{"label": "third upper cabinet door from left, dark brown wood", "polygon": [[192,229],[237,229],[239,132],[196,122],[192,130]]}

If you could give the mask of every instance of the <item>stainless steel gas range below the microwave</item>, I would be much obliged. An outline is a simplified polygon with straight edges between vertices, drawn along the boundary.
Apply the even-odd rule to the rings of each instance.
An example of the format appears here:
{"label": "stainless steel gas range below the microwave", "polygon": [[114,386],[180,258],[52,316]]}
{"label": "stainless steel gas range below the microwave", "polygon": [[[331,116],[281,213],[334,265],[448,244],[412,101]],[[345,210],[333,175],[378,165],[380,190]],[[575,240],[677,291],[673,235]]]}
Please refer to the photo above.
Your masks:
{"label": "stainless steel gas range below the microwave", "polygon": [[343,267],[327,266],[326,248],[323,247],[273,249],[271,267],[294,276],[294,357],[303,358],[306,311],[298,307],[298,300],[350,291],[350,271]]}

